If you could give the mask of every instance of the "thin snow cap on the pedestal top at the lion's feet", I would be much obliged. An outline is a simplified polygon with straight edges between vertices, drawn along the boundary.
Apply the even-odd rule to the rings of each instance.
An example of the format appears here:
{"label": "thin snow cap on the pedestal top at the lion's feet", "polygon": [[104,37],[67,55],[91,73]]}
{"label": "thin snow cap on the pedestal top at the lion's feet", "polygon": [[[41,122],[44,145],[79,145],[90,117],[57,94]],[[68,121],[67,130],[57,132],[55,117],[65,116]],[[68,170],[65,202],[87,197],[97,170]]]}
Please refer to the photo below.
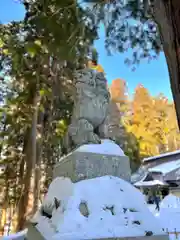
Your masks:
{"label": "thin snow cap on the pedestal top at the lion's feet", "polygon": [[101,144],[85,144],[77,148],[77,152],[91,152],[107,155],[125,156],[123,150],[109,139],[101,140]]}

